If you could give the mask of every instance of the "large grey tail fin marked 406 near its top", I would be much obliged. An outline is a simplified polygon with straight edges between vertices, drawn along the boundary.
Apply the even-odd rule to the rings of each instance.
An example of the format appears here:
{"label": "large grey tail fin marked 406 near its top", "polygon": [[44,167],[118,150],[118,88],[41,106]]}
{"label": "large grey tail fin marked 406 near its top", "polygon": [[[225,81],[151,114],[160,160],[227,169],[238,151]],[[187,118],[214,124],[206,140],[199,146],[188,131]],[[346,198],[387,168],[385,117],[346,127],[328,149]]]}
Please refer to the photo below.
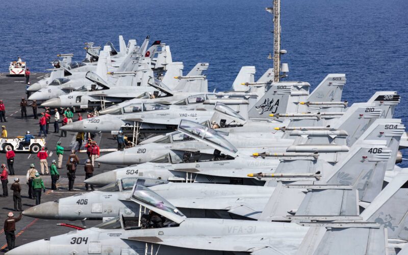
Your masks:
{"label": "large grey tail fin marked 406 near its top", "polygon": [[[377,144],[381,144],[378,142]],[[382,143],[383,144],[383,143]],[[359,190],[359,198],[370,202],[381,191],[392,151],[384,145],[354,146],[334,173],[324,174],[327,185],[349,185]]]}

